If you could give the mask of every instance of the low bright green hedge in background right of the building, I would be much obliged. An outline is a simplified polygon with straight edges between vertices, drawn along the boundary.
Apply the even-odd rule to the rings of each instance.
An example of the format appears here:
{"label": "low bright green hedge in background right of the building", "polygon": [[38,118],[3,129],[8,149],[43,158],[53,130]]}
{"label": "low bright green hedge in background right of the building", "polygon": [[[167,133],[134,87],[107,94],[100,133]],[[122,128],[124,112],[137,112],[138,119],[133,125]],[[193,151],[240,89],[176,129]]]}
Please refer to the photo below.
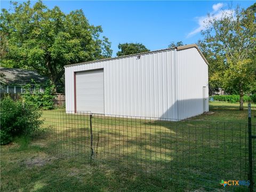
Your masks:
{"label": "low bright green hedge in background right of the building", "polygon": [[[225,101],[230,103],[237,103],[240,101],[239,95],[213,95],[211,98],[213,98],[214,101]],[[243,100],[244,102],[251,101],[256,103],[256,94],[251,96],[244,95]]]}

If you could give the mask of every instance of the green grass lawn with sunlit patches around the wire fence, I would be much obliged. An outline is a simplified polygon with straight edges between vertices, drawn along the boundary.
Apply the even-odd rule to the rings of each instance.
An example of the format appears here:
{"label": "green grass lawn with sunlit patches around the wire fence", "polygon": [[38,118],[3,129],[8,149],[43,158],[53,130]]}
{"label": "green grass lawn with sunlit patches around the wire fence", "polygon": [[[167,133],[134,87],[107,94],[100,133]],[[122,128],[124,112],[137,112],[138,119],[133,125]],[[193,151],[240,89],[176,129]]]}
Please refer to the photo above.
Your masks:
{"label": "green grass lawn with sunlit patches around the wire fence", "polygon": [[49,132],[1,146],[1,191],[221,191],[247,178],[246,105],[211,102],[214,114],[182,122],[95,116],[92,161],[88,116],[54,111]]}

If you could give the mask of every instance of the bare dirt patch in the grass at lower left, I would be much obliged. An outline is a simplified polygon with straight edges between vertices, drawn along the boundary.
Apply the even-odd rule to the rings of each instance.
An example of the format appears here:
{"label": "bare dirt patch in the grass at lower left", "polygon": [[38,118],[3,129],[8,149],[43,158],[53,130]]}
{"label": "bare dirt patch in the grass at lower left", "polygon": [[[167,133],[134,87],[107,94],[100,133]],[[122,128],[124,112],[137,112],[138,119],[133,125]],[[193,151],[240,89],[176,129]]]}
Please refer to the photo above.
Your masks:
{"label": "bare dirt patch in the grass at lower left", "polygon": [[53,162],[55,159],[57,158],[51,156],[38,156],[27,159],[23,164],[27,167],[44,166],[45,164]]}

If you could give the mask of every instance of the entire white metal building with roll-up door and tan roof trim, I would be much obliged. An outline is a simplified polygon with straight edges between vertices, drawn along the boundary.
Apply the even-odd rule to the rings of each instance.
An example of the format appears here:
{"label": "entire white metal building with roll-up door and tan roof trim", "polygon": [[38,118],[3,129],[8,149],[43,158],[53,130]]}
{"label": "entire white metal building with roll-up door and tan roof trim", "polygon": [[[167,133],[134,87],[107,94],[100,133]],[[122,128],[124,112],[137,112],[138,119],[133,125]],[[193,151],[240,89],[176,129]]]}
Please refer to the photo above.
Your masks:
{"label": "entire white metal building with roll-up door and tan roof trim", "polygon": [[209,110],[196,44],[65,66],[66,112],[185,119]]}

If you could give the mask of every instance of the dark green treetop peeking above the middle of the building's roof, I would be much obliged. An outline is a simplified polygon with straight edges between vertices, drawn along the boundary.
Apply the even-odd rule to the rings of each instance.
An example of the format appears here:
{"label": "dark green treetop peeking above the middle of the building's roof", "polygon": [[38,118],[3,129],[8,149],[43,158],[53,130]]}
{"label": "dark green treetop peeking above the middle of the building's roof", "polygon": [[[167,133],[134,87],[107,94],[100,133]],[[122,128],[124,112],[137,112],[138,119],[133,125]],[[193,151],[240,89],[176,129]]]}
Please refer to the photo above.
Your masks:
{"label": "dark green treetop peeking above the middle of the building's roof", "polygon": [[123,44],[119,43],[118,49],[121,50],[116,53],[118,57],[150,51],[149,49],[146,48],[145,45],[141,43],[123,43]]}

